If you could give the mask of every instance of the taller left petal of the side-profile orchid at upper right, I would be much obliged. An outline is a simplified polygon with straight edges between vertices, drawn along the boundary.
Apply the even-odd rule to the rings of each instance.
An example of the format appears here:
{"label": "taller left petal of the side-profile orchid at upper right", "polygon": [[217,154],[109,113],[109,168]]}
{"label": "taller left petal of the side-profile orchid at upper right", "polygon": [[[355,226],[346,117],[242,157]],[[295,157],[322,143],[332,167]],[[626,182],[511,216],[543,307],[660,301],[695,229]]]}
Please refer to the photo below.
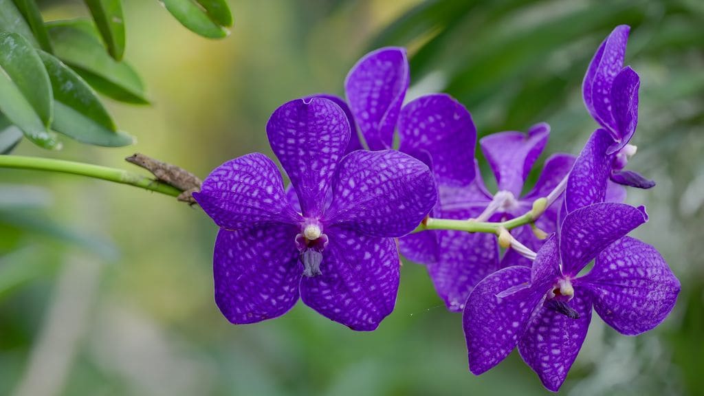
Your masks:
{"label": "taller left petal of the side-profile orchid at upper right", "polygon": [[612,117],[610,89],[623,68],[630,30],[627,25],[617,26],[601,43],[589,63],[582,85],[586,109],[601,126],[612,131],[616,130],[616,125]]}

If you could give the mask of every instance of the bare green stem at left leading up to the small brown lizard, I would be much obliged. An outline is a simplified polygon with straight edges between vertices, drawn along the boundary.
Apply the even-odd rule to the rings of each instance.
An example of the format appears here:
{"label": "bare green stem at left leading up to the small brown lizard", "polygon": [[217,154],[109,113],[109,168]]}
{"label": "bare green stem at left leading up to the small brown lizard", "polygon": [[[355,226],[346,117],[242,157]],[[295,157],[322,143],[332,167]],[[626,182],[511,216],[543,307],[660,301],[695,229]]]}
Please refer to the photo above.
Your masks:
{"label": "bare green stem at left leading up to the small brown lizard", "polygon": [[133,185],[161,194],[177,197],[181,191],[163,182],[158,182],[146,176],[123,171],[107,166],[91,165],[89,163],[63,161],[61,159],[48,159],[32,156],[0,155],[0,168],[34,169],[36,171],[49,171],[71,173],[73,175],[87,176],[110,182]]}

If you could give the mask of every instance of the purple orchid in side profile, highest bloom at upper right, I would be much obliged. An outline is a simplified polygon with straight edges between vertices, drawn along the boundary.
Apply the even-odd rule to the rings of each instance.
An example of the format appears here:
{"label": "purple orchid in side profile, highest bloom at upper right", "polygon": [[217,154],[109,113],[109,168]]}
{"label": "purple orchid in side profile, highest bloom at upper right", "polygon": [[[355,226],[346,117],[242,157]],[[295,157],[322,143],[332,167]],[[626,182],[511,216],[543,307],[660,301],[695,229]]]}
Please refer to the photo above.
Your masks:
{"label": "purple orchid in side profile, highest bloom at upper right", "polygon": [[[617,26],[599,46],[584,75],[582,96],[586,109],[601,125],[602,132],[610,140],[605,150],[595,155],[602,156],[608,166],[612,182],[638,188],[650,188],[653,180],[634,171],[624,171],[636,147],[629,144],[638,125],[639,75],[630,66],[623,66],[626,45],[631,28]],[[625,192],[617,192],[624,195]]]}

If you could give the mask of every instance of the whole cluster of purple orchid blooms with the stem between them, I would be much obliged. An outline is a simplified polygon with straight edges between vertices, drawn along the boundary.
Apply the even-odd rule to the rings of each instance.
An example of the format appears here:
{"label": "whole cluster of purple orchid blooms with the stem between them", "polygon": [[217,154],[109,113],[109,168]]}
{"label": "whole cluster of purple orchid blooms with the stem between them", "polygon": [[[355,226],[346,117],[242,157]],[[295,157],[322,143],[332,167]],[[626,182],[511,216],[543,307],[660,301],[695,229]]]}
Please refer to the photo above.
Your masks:
{"label": "whole cluster of purple orchid blooms with the stem between them", "polygon": [[463,312],[472,373],[517,347],[553,391],[592,309],[625,335],[658,326],[680,286],[654,247],[627,236],[648,215],[622,203],[624,186],[655,185],[624,170],[636,152],[640,81],[623,67],[628,35],[616,27],[584,78],[586,109],[601,128],[577,158],[548,157],[525,194],[548,125],[479,140],[498,186],[490,192],[470,113],[446,94],[403,104],[410,73],[401,48],[360,59],[346,100],[316,94],[280,106],[266,132],[289,188],[271,159],[248,154],[194,193],[220,227],[213,272],[222,314],[255,323],[300,297],[332,321],[374,330],[394,310],[401,252],[427,266],[449,311]]}

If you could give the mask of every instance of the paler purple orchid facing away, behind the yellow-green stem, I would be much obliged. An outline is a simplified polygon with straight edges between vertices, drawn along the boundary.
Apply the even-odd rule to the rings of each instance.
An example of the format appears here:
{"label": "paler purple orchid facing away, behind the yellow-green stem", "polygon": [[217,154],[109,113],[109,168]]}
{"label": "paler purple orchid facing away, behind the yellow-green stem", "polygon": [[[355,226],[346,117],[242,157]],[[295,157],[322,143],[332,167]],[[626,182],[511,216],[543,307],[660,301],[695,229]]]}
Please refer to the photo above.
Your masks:
{"label": "paler purple orchid facing away, behind the yellow-green stem", "polygon": [[[527,135],[500,132],[482,138],[479,143],[494,171],[498,192],[492,195],[486,190],[477,168],[476,178],[468,187],[450,187],[438,182],[440,197],[432,215],[504,221],[532,209],[536,199],[546,197],[565,178],[574,161],[574,157],[568,154],[551,156],[535,187],[521,195],[523,183],[545,148],[549,134],[549,126],[541,123],[530,128]],[[477,166],[476,161],[474,166]],[[559,206],[559,202],[549,206],[536,221],[537,226],[548,233],[554,232]],[[530,249],[537,250],[543,244],[530,225],[516,228],[512,233]],[[462,311],[472,288],[485,276],[499,268],[532,264],[514,249],[508,249],[503,259],[499,260],[496,236],[491,234],[423,231],[401,238],[399,245],[405,256],[427,266],[436,292],[450,311]]]}

